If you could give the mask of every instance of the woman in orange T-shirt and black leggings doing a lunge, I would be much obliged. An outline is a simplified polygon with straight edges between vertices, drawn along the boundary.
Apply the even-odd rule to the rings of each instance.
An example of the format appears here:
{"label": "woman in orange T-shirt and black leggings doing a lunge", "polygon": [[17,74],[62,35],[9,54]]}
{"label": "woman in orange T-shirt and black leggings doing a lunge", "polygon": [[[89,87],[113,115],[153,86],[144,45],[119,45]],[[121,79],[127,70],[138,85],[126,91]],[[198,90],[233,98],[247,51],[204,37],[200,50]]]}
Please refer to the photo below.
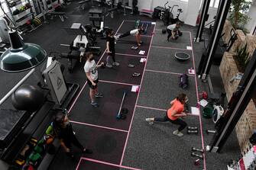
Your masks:
{"label": "woman in orange T-shirt and black leggings doing a lunge", "polygon": [[185,94],[181,93],[173,101],[170,101],[170,108],[167,110],[167,114],[164,117],[152,117],[146,118],[146,121],[150,124],[154,122],[166,122],[178,124],[180,127],[177,130],[173,131],[174,135],[183,136],[181,131],[187,126],[186,122],[180,117],[186,117],[187,113],[184,112],[184,105],[188,101],[188,98]]}

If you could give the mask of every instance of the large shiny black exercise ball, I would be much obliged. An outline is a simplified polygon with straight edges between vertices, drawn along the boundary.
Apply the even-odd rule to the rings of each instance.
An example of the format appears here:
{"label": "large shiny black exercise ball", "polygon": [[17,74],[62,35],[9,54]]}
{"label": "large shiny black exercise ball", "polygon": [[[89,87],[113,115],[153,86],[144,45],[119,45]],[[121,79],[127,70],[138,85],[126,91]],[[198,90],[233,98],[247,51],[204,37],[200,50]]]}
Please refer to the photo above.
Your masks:
{"label": "large shiny black exercise ball", "polygon": [[44,93],[33,85],[22,85],[11,95],[11,102],[19,111],[37,111],[44,104]]}

